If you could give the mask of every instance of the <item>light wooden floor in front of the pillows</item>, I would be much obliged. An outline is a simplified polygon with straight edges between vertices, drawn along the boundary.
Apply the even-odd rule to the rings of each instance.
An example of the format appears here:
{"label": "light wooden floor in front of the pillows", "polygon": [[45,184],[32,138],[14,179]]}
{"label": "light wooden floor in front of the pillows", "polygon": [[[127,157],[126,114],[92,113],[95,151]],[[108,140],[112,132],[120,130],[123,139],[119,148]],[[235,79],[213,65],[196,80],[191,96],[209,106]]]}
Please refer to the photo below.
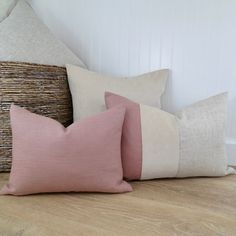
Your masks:
{"label": "light wooden floor in front of the pillows", "polygon": [[[7,178],[0,174],[0,187]],[[0,235],[236,235],[236,175],[132,186],[127,194],[0,196]]]}

